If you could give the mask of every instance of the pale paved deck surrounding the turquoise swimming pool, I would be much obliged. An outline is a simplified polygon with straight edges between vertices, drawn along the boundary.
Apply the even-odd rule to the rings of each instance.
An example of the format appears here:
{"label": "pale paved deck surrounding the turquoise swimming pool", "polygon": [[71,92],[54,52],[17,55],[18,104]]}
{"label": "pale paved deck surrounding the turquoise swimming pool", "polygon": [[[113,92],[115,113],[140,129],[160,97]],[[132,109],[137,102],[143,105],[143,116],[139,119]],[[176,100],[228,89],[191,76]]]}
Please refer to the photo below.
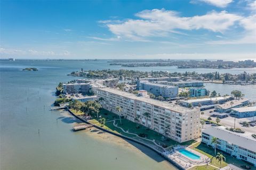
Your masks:
{"label": "pale paved deck surrounding the turquoise swimming pool", "polygon": [[[187,151],[194,153],[200,158],[191,159],[190,157],[183,155],[182,153],[179,152],[179,150],[182,150],[182,149],[186,149]],[[189,169],[194,166],[207,165],[208,163],[210,163],[210,158],[206,157],[202,153],[199,153],[193,149],[190,149],[182,145],[174,147],[174,150],[170,152],[167,156],[185,169]]]}

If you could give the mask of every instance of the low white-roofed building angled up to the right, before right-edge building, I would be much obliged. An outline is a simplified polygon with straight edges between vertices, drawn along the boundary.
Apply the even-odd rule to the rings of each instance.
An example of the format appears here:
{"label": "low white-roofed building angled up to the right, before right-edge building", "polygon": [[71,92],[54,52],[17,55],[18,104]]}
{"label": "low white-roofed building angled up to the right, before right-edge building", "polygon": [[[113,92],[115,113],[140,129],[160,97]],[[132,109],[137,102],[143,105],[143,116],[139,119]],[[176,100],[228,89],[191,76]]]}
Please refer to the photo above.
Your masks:
{"label": "low white-roofed building angled up to the right, before right-edge building", "polygon": [[246,104],[248,103],[249,103],[248,99],[232,100],[215,107],[214,110],[220,113],[227,113],[227,112],[230,112],[232,108],[239,108],[242,106],[246,106]]}

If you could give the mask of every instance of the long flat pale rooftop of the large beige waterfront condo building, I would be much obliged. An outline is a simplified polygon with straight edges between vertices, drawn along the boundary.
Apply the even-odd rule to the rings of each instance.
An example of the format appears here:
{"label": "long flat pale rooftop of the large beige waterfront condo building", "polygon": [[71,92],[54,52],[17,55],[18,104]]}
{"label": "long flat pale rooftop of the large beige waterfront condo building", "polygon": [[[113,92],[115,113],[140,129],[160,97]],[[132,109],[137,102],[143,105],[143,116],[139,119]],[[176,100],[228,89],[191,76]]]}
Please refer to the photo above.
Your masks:
{"label": "long flat pale rooftop of the large beige waterfront condo building", "polygon": [[158,106],[158,107],[162,107],[162,108],[165,108],[165,109],[168,109],[168,110],[172,110],[172,111],[175,111],[175,112],[179,112],[179,113],[186,113],[186,112],[190,112],[190,111],[199,110],[199,109],[196,109],[196,108],[181,107],[181,106],[176,105],[176,104],[166,103],[166,102],[155,100],[155,99],[150,99],[150,98],[145,98],[145,97],[142,97],[142,96],[137,96],[137,95],[134,95],[132,93],[127,93],[127,92],[116,90],[114,88],[105,87],[105,88],[99,88],[99,90],[109,92],[109,93],[113,93],[113,94],[117,94],[117,95],[123,96],[125,98],[129,98],[129,99],[132,99],[132,100],[138,100],[138,101],[141,101],[141,102],[149,103],[149,104],[152,104],[152,105],[155,105],[155,106]]}

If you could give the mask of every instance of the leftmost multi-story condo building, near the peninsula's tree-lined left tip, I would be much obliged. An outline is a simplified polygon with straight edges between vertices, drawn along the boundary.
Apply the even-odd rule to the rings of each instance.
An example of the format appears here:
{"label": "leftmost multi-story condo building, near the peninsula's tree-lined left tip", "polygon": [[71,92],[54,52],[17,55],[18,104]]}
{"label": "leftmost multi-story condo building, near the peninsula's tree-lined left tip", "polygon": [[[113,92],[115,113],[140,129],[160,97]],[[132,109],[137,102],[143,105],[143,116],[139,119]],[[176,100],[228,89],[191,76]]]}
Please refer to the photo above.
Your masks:
{"label": "leftmost multi-story condo building, near the peninsula's tree-lined left tip", "polygon": [[63,84],[63,93],[88,93],[89,90],[90,84],[88,83]]}

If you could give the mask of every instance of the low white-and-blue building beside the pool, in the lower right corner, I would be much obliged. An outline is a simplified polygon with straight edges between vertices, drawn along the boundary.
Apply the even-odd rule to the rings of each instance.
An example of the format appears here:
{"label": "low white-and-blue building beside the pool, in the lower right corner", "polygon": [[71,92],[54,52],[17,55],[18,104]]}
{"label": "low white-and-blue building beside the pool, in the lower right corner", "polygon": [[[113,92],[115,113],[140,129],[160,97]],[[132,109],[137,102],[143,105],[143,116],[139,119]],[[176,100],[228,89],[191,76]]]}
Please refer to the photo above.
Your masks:
{"label": "low white-and-blue building beside the pool, in the lower right corner", "polygon": [[217,137],[217,149],[256,166],[256,139],[251,134],[246,134],[228,131],[223,126],[209,127],[202,131],[202,142],[214,147],[211,140],[212,137]]}

